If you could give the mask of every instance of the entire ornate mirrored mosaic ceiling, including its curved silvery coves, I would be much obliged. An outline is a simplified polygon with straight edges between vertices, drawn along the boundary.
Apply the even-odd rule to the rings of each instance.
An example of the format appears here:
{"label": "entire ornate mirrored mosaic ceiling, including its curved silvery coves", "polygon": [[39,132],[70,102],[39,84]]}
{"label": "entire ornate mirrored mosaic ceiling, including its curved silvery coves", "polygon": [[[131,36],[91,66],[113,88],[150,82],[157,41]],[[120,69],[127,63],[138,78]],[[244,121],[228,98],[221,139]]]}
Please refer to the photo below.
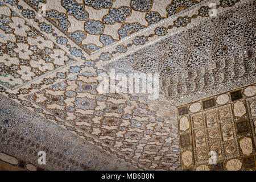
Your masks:
{"label": "entire ornate mirrored mosaic ceiling, including its curved silvery coves", "polygon": [[[34,164],[44,150],[46,169],[180,169],[175,105],[255,82],[255,1],[2,0],[0,13],[0,150]],[[98,93],[111,68],[159,73],[158,100]]]}

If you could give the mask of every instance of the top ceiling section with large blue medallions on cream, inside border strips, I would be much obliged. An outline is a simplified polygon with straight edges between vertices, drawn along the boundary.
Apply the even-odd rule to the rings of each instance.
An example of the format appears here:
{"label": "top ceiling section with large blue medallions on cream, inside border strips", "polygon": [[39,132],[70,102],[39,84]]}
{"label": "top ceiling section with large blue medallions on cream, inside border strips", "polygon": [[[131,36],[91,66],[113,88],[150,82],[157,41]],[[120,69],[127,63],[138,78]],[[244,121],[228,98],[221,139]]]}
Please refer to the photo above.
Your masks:
{"label": "top ceiling section with large blue medallions on cream, inside border strips", "polygon": [[[88,53],[109,46],[200,1],[26,1],[34,10],[45,6],[46,16]],[[27,18],[33,15],[24,11]],[[43,25],[41,26],[44,27]],[[47,26],[46,26],[47,27]],[[49,27],[49,31],[51,27]],[[146,37],[136,41],[147,41]],[[120,45],[117,51],[124,51]]]}

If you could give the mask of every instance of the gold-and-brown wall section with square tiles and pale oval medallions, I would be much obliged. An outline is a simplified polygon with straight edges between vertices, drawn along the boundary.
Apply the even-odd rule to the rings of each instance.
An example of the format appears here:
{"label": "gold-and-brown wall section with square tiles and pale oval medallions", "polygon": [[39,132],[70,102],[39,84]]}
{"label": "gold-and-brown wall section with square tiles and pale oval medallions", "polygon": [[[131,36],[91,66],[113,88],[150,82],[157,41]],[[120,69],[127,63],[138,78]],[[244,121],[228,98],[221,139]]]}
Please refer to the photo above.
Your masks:
{"label": "gold-and-brown wall section with square tiles and pale oval medallions", "polygon": [[183,170],[256,170],[256,84],[177,107]]}

